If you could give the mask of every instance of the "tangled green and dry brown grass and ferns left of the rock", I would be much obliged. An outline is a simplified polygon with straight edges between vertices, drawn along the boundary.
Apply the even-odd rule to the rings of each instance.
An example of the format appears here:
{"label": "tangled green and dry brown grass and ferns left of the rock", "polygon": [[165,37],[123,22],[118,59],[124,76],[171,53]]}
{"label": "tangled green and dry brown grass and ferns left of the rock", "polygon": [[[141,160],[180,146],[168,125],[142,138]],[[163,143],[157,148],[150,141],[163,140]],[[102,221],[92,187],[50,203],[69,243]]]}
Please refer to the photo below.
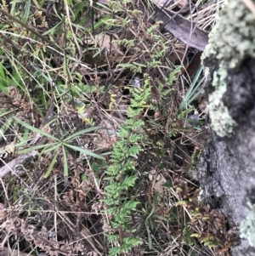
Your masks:
{"label": "tangled green and dry brown grass and ferns left of the rock", "polygon": [[[222,2],[206,2],[186,15],[208,29]],[[201,67],[185,71],[192,49],[133,1],[0,8],[0,173],[14,162],[1,176],[2,245],[32,255],[223,251],[227,240],[212,237],[224,219],[213,226],[190,176],[206,100]]]}

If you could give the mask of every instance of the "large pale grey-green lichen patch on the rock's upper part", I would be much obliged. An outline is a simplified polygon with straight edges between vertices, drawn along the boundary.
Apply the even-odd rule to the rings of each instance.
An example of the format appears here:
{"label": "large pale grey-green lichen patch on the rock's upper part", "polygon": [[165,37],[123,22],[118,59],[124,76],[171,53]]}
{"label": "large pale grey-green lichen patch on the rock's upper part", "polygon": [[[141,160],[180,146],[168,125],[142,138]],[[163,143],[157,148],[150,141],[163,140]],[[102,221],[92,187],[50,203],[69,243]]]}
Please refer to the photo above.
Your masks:
{"label": "large pale grey-green lichen patch on the rock's upper part", "polygon": [[[252,2],[255,3],[254,0]],[[219,63],[212,80],[215,91],[209,96],[212,128],[219,136],[229,137],[237,124],[222,102],[227,90],[227,71],[241,65],[246,58],[255,58],[255,15],[242,0],[226,1],[217,25],[209,35],[209,43],[201,60],[212,56]]]}

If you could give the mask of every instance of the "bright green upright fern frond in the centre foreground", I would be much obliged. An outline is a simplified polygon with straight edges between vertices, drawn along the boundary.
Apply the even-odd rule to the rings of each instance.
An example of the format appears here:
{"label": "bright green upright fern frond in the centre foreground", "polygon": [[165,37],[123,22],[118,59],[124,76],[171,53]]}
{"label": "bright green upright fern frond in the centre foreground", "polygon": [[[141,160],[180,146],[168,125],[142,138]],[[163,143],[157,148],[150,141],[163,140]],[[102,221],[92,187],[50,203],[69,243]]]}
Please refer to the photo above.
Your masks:
{"label": "bright green upright fern frond in the centre foreground", "polygon": [[141,128],[144,121],[141,115],[144,106],[150,100],[150,79],[144,80],[143,88],[128,88],[132,100],[127,111],[127,120],[118,133],[119,141],[116,142],[111,155],[111,165],[105,171],[108,185],[105,187],[105,210],[110,216],[113,232],[105,234],[111,242],[109,255],[127,253],[141,241],[134,237],[131,225],[131,214],[136,211],[139,202],[135,198],[127,197],[127,191],[132,190],[138,178],[135,174],[137,156],[142,151],[145,143]]}

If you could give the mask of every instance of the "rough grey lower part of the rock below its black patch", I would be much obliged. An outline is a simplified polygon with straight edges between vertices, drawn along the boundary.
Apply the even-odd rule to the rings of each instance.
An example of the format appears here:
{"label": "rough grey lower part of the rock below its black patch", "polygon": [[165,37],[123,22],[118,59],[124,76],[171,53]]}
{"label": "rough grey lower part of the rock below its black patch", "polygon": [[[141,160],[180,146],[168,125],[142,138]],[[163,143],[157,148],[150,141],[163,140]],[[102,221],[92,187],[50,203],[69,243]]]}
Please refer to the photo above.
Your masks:
{"label": "rough grey lower part of the rock below its black patch", "polygon": [[[252,66],[254,69],[255,61]],[[224,213],[229,233],[236,235],[231,256],[255,255],[251,243],[255,241],[255,219],[252,221],[251,208],[246,203],[250,201],[255,206],[254,152],[255,107],[231,138],[222,139],[212,132],[197,164],[197,178],[203,191],[201,201]]]}

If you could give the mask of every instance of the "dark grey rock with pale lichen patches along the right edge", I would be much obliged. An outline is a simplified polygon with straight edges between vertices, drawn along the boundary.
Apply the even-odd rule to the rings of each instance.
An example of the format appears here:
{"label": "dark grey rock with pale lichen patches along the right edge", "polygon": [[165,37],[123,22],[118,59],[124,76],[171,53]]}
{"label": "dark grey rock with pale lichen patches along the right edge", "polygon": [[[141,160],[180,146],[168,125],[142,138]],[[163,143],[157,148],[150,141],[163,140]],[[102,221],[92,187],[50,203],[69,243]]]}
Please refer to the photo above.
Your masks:
{"label": "dark grey rock with pale lichen patches along the right edge", "polygon": [[211,126],[225,138],[212,133],[197,165],[202,201],[242,238],[233,256],[255,255],[255,14],[244,3],[225,3],[202,56]]}

